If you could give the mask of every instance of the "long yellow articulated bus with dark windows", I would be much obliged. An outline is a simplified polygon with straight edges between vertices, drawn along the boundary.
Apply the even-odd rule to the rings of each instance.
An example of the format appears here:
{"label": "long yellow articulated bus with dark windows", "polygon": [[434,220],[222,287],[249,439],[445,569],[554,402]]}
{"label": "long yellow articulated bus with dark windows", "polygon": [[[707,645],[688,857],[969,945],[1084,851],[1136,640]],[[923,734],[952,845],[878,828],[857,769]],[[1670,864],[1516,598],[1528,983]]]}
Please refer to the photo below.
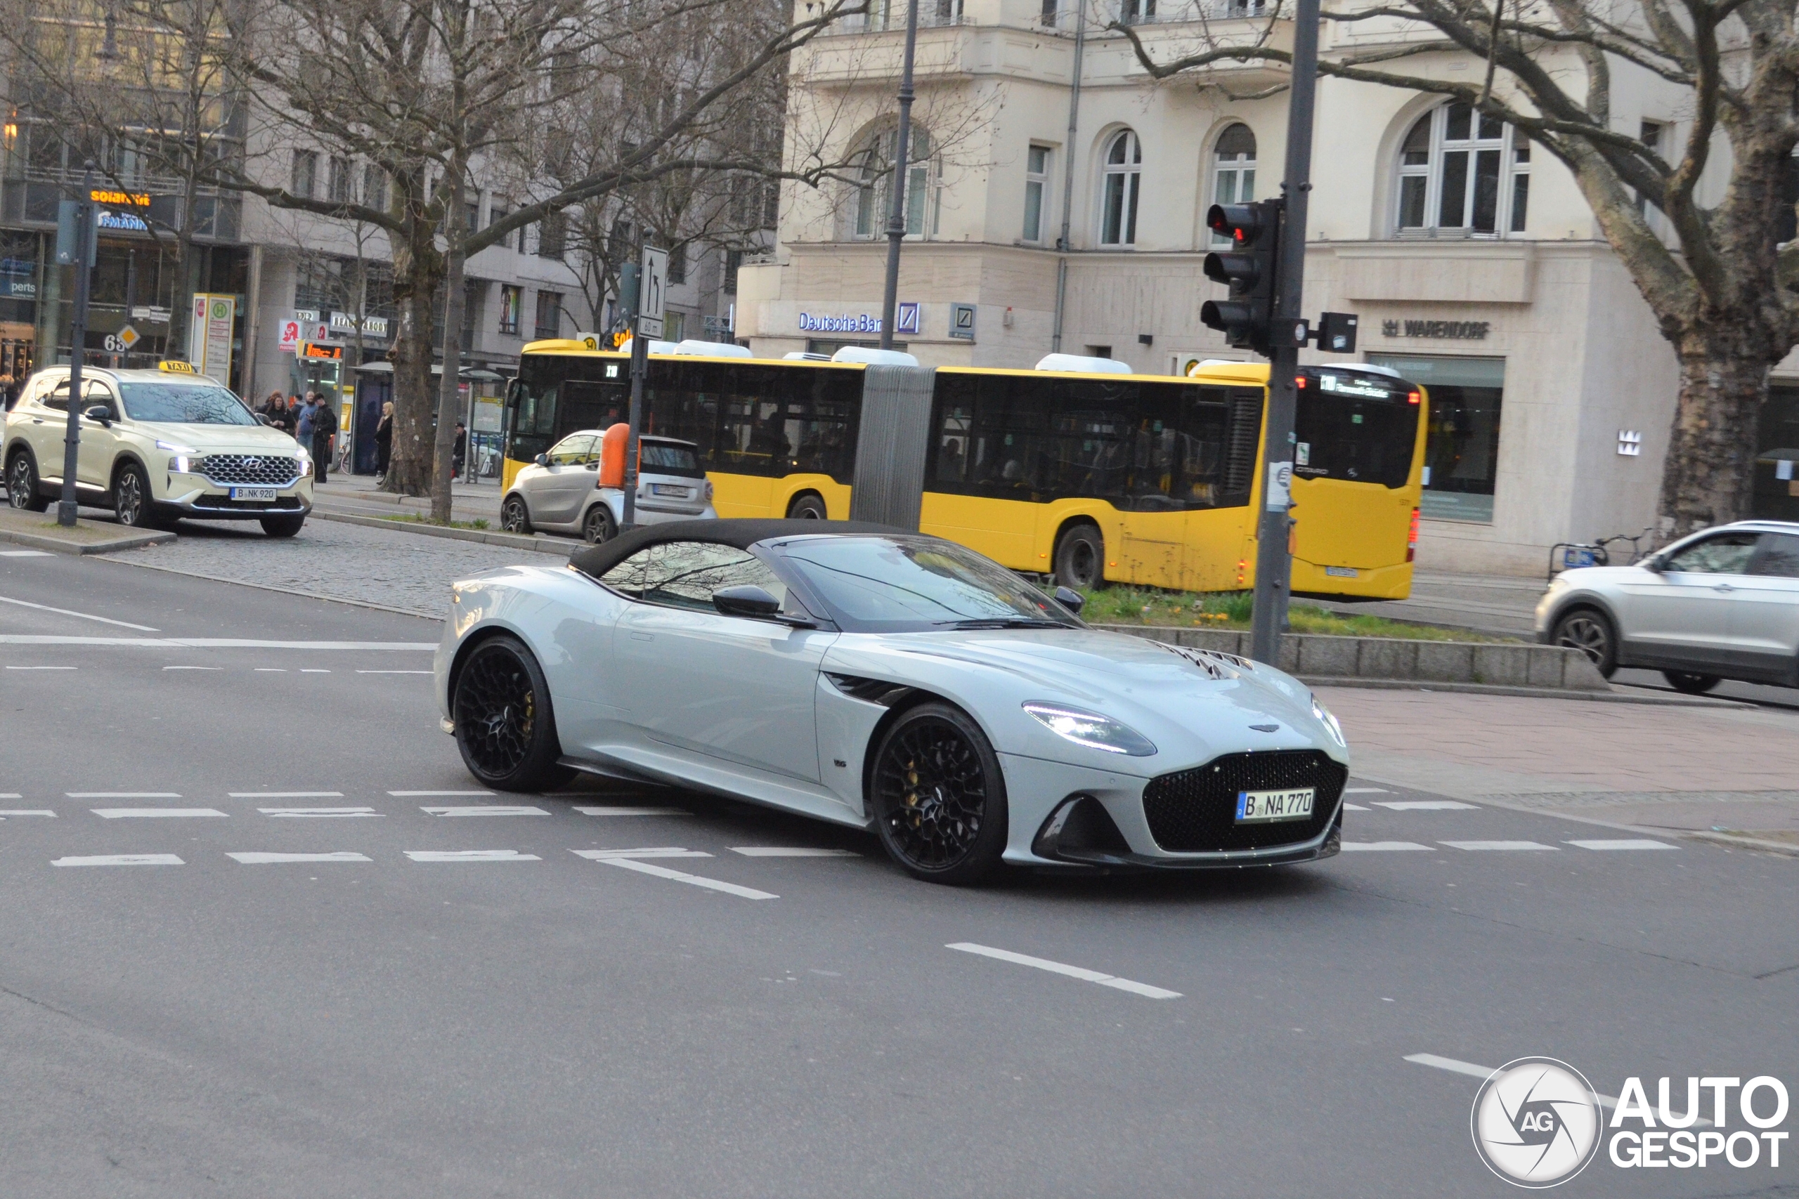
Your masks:
{"label": "long yellow articulated bus with dark windows", "polygon": [[[700,448],[721,518],[849,518],[862,386],[849,361],[651,354],[644,433]],[[1065,586],[1254,584],[1268,367],[1191,377],[939,367],[919,527]],[[577,430],[626,419],[630,360],[525,347],[509,385],[506,487]],[[1403,599],[1425,446],[1423,390],[1308,367],[1295,446],[1293,590]]]}

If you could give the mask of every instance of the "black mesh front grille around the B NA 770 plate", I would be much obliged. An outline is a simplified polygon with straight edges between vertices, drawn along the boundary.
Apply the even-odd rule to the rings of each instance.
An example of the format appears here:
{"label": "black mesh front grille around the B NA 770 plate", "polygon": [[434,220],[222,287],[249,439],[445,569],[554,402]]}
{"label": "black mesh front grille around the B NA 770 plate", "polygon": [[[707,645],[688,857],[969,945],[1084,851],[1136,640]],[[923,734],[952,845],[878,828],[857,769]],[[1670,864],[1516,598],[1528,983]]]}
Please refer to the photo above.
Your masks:
{"label": "black mesh front grille around the B NA 770 plate", "polygon": [[[1268,848],[1310,841],[1337,811],[1347,768],[1317,750],[1227,753],[1205,766],[1160,775],[1142,789],[1150,836],[1175,854]],[[1238,791],[1313,787],[1311,816],[1275,823],[1236,823]]]}

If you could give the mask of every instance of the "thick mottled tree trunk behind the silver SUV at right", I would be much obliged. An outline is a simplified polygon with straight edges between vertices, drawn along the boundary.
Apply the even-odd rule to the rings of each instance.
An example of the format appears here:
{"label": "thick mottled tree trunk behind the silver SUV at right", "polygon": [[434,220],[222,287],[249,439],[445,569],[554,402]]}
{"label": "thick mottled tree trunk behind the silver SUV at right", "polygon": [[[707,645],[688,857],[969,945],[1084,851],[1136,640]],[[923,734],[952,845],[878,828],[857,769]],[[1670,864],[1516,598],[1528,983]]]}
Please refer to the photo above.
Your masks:
{"label": "thick mottled tree trunk behind the silver SUV at right", "polygon": [[1747,342],[1711,333],[1675,343],[1680,395],[1662,469],[1664,541],[1749,516],[1768,363],[1763,347]]}

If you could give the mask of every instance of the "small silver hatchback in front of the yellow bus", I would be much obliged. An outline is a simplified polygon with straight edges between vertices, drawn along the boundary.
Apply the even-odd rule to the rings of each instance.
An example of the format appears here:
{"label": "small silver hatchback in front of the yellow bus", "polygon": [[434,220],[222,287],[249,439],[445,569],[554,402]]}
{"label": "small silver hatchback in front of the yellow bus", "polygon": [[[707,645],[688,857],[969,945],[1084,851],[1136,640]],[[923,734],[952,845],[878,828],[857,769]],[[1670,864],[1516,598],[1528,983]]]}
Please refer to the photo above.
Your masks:
{"label": "small silver hatchback in front of the yellow bus", "polygon": [[[586,541],[608,541],[624,521],[624,491],[603,487],[599,455],[604,430],[568,433],[518,471],[500,502],[500,528],[507,532],[577,532]],[[637,523],[711,520],[712,482],[689,440],[639,437]]]}

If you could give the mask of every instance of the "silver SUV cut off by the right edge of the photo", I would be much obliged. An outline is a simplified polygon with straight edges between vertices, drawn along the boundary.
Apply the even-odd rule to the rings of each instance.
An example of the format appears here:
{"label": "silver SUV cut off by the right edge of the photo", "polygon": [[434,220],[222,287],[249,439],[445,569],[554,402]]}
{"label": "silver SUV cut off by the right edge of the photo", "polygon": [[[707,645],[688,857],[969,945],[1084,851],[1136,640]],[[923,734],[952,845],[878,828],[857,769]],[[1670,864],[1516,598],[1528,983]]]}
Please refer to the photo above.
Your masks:
{"label": "silver SUV cut off by the right edge of the photo", "polygon": [[1608,678],[1651,667],[1695,696],[1727,678],[1799,687],[1799,523],[1720,525],[1635,566],[1562,572],[1536,636]]}

